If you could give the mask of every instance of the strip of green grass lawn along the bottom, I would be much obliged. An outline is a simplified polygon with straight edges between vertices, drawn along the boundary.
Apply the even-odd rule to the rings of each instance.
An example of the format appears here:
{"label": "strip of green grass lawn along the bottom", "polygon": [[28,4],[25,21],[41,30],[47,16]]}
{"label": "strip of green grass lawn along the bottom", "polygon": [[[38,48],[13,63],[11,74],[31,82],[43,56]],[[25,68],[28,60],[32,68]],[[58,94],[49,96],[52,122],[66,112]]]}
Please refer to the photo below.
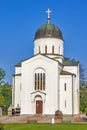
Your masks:
{"label": "strip of green grass lawn along the bottom", "polygon": [[5,124],[6,130],[87,130],[87,124]]}

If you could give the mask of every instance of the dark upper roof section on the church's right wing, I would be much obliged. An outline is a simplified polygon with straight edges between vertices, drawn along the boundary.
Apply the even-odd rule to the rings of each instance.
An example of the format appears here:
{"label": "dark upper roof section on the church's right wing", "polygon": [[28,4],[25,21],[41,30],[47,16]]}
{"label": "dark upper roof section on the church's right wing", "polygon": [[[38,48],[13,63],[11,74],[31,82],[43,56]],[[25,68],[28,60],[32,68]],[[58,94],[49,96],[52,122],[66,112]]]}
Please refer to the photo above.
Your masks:
{"label": "dark upper roof section on the church's right wing", "polygon": [[78,64],[79,64],[79,61],[77,61],[75,59],[65,58],[63,61],[64,66],[78,66]]}

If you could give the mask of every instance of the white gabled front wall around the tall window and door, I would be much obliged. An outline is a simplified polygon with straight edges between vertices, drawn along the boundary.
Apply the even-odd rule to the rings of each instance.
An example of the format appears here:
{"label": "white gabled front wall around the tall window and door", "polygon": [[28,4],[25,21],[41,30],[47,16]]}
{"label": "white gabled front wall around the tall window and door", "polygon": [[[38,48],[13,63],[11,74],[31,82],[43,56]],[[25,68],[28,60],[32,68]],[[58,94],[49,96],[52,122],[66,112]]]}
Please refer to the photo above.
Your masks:
{"label": "white gabled front wall around the tall window and door", "polygon": [[[46,94],[44,114],[54,114],[58,109],[58,62],[38,55],[22,63],[22,95],[21,114],[35,114],[31,93],[34,90],[34,71],[44,68],[46,72]],[[54,76],[55,75],[55,76]]]}

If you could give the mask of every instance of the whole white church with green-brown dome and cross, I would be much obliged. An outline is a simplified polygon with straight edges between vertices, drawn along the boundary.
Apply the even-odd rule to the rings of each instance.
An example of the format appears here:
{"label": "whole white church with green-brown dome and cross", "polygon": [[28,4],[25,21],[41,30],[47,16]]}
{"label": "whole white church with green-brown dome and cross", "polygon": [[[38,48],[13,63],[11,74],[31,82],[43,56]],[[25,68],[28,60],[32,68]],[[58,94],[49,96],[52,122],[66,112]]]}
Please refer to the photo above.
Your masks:
{"label": "whole white church with green-brown dome and cross", "polygon": [[50,12],[35,33],[34,55],[15,65],[12,105],[20,107],[20,115],[79,113],[79,62],[64,57],[63,35]]}

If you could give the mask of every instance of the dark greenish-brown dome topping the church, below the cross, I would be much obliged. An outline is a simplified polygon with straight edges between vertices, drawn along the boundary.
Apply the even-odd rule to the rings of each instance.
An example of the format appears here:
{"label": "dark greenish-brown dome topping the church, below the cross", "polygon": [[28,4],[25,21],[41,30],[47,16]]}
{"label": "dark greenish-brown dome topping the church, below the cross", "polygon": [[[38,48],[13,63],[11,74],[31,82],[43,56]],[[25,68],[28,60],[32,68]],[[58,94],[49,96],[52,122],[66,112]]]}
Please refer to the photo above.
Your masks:
{"label": "dark greenish-brown dome topping the church, below the cross", "polygon": [[51,23],[43,24],[41,27],[38,28],[38,30],[35,33],[34,40],[40,38],[58,38],[63,40],[61,30]]}

